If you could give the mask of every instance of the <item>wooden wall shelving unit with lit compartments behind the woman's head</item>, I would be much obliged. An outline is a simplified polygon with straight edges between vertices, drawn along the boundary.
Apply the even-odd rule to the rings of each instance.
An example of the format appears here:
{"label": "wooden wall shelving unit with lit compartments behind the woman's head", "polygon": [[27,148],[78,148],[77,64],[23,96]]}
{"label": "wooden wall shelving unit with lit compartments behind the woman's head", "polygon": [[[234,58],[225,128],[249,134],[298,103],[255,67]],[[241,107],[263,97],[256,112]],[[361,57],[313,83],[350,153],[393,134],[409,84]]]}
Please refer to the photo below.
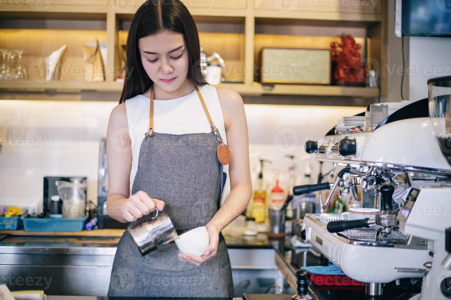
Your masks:
{"label": "wooden wall shelving unit with lit compartments behind the woman's head", "polygon": [[[223,83],[219,85],[221,87],[236,90],[242,96],[273,94],[377,98],[379,90],[366,87],[267,86],[257,82],[258,76],[255,76],[254,71],[258,67],[258,54],[263,46],[326,47],[330,41],[337,40],[337,36],[351,32],[359,43],[364,44],[367,57],[373,58],[381,66],[381,94],[386,94],[387,72],[382,66],[387,63],[387,0],[378,1],[375,7],[363,5],[370,1],[352,5],[349,3],[353,2],[347,0],[335,1],[334,5],[326,5],[324,1],[318,3],[325,4],[318,5],[316,1],[299,0],[290,1],[288,6],[283,5],[283,0],[182,2],[187,5],[198,25],[201,45],[206,53],[218,52],[228,69],[232,70],[224,75],[226,80],[240,82]],[[43,99],[46,93],[94,91],[119,94],[123,84],[116,82],[115,77],[121,67],[121,45],[125,43],[129,22],[143,1],[124,3],[122,5],[120,0],[80,0],[74,4],[69,0],[52,0],[48,5],[44,2],[42,5],[21,5],[0,0],[0,4],[5,4],[0,12],[0,19],[4,19],[0,21],[1,48],[27,49],[28,53],[23,55],[24,65],[30,65],[66,44],[70,55],[66,53],[61,64],[80,67],[83,64],[81,45],[92,43],[97,38],[107,43],[106,68],[115,70],[106,72],[104,82],[83,81],[83,76],[70,72],[50,82],[31,79],[3,81],[0,82],[0,94],[41,93]],[[212,6],[209,6],[210,3]],[[297,6],[292,6],[292,3],[297,3]],[[47,22],[54,25],[49,27]],[[58,24],[64,24],[64,29],[58,29]],[[268,31],[268,28],[271,30]],[[318,28],[321,33],[315,36],[312,28]],[[62,35],[61,31],[67,34]],[[57,40],[50,40],[55,36],[58,36]],[[243,72],[234,72],[234,68]]]}

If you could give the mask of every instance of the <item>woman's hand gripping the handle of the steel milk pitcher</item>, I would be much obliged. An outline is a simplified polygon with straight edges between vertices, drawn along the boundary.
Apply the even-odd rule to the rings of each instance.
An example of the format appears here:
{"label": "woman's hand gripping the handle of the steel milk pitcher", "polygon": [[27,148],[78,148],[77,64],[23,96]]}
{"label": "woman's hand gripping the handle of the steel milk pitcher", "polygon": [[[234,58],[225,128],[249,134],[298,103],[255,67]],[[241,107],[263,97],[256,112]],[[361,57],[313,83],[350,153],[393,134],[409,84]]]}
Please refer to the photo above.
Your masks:
{"label": "woman's hand gripping the handle of the steel milk pitcher", "polygon": [[139,191],[127,199],[122,205],[122,211],[124,218],[129,222],[133,222],[144,215],[150,214],[155,208],[161,211],[164,207],[165,202],[149,197],[146,192]]}

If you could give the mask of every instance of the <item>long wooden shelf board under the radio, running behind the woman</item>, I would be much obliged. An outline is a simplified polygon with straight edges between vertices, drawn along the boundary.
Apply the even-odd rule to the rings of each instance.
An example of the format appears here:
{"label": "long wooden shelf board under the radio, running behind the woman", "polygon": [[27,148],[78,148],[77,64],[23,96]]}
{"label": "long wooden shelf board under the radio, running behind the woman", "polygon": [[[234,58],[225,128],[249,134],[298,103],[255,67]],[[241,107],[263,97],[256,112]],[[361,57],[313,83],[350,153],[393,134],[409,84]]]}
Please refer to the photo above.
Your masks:
{"label": "long wooden shelf board under the radio, running behind the woman", "polygon": [[[49,81],[39,83],[31,80],[5,81],[0,90],[14,90],[20,92],[46,93],[79,93],[82,91],[120,93],[121,82],[86,82],[86,81]],[[307,96],[341,96],[376,98],[379,90],[366,87],[335,86],[335,85],[291,85],[276,84],[273,87],[254,82],[252,85],[243,83],[223,83],[215,85],[237,91],[241,96],[273,95],[307,95]]]}

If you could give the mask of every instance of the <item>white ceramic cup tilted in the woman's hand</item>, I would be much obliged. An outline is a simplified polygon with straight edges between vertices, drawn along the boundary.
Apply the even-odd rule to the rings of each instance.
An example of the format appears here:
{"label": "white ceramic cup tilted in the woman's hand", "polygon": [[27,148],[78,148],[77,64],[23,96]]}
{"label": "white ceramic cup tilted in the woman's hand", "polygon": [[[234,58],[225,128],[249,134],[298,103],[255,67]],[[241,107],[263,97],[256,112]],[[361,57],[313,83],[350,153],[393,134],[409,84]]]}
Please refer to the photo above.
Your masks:
{"label": "white ceramic cup tilted in the woman's hand", "polygon": [[210,237],[208,237],[205,226],[194,228],[180,234],[179,237],[178,240],[175,240],[175,244],[183,254],[191,253],[196,256],[201,256],[210,243]]}

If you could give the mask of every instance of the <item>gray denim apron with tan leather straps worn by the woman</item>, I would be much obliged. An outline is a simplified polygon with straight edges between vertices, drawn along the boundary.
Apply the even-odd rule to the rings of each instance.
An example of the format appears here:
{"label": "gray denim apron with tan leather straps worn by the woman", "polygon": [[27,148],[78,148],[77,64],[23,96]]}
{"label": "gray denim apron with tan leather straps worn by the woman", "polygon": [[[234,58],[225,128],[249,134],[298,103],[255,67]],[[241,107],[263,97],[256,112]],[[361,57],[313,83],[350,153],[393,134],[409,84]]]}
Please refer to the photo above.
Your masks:
{"label": "gray denim apron with tan leather straps worn by the woman", "polygon": [[[165,202],[164,211],[178,234],[205,226],[220,206],[223,166],[217,157],[219,131],[209,133],[153,132],[153,86],[150,128],[139,150],[132,195],[144,191]],[[187,112],[189,113],[189,112]],[[219,136],[220,137],[220,136]],[[225,173],[224,173],[225,174]],[[153,213],[130,222],[129,226]],[[234,295],[226,242],[219,234],[216,256],[196,266],[178,256],[174,242],[142,256],[126,230],[117,246],[108,296],[225,297]]]}

